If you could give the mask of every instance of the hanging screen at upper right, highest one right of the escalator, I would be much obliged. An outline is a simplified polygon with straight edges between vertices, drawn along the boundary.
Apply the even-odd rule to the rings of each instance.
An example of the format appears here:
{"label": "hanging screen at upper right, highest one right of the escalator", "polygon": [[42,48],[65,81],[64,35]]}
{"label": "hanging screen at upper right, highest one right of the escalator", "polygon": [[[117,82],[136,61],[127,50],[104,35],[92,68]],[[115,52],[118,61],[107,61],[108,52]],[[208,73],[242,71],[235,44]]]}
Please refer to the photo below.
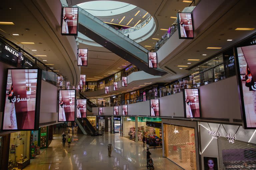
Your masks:
{"label": "hanging screen at upper right, highest one right of the escalator", "polygon": [[178,12],[177,18],[179,39],[193,39],[194,30],[193,30],[193,20],[191,13],[180,13]]}

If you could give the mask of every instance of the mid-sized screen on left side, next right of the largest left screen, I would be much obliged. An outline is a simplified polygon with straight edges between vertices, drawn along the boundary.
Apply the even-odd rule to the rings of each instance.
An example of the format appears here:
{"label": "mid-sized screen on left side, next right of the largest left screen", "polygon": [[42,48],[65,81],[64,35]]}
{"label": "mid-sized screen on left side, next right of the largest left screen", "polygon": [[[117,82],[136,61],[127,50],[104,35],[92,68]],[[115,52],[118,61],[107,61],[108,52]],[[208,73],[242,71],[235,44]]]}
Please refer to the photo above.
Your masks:
{"label": "mid-sized screen on left side, next right of the largest left screen", "polygon": [[59,90],[58,121],[75,121],[75,90]]}

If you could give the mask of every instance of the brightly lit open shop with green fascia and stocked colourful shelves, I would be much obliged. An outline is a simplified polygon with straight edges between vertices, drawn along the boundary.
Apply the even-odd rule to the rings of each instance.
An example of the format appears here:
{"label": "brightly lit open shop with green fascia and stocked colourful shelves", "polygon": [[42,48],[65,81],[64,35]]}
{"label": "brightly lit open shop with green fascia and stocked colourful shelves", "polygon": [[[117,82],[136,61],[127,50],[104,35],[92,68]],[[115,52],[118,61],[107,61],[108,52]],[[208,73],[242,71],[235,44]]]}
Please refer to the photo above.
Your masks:
{"label": "brightly lit open shop with green fascia and stocked colourful shelves", "polygon": [[[136,117],[124,117],[124,136],[136,141]],[[145,135],[148,147],[153,147],[152,139],[156,139],[156,145],[162,147],[162,130],[160,127],[147,126],[147,121],[161,123],[161,118],[138,117],[138,141],[142,141]]]}

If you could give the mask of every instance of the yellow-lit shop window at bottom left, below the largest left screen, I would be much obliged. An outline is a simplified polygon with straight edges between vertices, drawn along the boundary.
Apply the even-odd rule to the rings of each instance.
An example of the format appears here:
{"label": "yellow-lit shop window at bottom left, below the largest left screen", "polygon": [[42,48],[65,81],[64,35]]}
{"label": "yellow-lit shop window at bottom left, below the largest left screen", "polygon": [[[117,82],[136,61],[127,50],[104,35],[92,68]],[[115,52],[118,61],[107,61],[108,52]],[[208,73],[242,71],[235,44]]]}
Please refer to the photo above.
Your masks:
{"label": "yellow-lit shop window at bottom left, below the largest left screen", "polygon": [[23,169],[30,164],[31,131],[17,131],[10,136],[8,169]]}

